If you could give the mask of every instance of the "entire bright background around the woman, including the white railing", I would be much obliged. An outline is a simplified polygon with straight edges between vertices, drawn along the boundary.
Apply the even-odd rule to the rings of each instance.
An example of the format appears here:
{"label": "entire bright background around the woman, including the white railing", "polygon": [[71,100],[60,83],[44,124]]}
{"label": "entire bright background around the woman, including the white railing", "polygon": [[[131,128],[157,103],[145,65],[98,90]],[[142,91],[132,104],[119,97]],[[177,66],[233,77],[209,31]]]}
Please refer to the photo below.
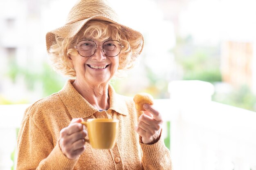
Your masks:
{"label": "entire bright background around the woman, including the white railing", "polygon": [[[135,67],[111,83],[122,95],[157,99],[175,170],[256,170],[255,0],[108,1],[121,23],[145,39]],[[58,92],[68,79],[49,66],[45,34],[65,24],[75,2],[0,1],[3,134],[17,134],[26,104]],[[9,127],[6,117],[14,116]],[[12,133],[13,143],[0,141],[9,146],[0,147],[0,169],[9,153],[15,168]]]}

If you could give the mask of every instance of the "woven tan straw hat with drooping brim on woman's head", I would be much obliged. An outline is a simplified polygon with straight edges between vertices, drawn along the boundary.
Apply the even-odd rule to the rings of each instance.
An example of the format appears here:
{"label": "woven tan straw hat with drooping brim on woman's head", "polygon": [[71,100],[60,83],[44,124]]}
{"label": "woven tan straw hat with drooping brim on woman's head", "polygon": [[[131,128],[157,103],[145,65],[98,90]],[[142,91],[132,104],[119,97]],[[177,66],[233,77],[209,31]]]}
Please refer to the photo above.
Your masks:
{"label": "woven tan straw hat with drooping brim on woman's head", "polygon": [[[55,42],[55,35],[62,38],[74,37],[89,20],[103,20],[120,25],[129,35],[141,38],[144,45],[143,35],[127,26],[119,24],[117,13],[108,6],[105,0],[78,0],[68,14],[66,24],[46,34],[46,47],[49,52],[50,46]],[[141,53],[139,52],[139,54]]]}

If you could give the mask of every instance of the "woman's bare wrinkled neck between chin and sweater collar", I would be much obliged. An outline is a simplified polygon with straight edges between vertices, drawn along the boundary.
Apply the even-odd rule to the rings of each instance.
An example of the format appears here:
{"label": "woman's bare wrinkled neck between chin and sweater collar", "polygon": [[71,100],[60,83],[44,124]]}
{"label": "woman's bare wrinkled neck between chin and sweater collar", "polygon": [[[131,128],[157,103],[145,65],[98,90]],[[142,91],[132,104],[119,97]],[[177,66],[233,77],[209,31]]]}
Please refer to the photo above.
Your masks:
{"label": "woman's bare wrinkled neck between chin and sweater collar", "polygon": [[108,84],[89,84],[75,80],[72,85],[94,108],[98,110],[109,108]]}

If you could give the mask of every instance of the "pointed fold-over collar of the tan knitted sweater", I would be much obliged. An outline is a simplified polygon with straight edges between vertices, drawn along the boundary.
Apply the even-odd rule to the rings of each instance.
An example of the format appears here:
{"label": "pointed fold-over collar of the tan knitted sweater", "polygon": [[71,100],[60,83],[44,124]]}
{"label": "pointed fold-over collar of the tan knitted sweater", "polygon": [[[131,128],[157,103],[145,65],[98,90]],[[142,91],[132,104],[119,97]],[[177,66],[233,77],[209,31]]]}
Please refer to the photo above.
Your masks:
{"label": "pointed fold-over collar of the tan knitted sweater", "polygon": [[[74,79],[67,80],[63,89],[58,92],[71,117],[85,118],[99,112],[99,110],[94,108],[76,91],[76,89],[72,86],[73,82]],[[128,115],[126,102],[120,95],[115,93],[115,90],[111,85],[108,86],[108,95],[110,98],[109,109],[115,110],[117,113],[122,115]]]}

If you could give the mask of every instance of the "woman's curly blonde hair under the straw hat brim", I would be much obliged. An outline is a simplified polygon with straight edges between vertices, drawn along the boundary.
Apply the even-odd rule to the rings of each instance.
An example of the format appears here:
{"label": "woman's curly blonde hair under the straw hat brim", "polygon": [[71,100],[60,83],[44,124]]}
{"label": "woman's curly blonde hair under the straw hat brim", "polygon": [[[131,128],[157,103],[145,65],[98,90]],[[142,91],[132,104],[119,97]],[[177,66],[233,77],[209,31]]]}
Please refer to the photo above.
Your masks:
{"label": "woman's curly blonde hair under the straw hat brim", "polygon": [[85,37],[97,41],[111,38],[121,42],[124,47],[118,55],[118,73],[121,73],[121,70],[130,69],[134,66],[134,62],[139,56],[143,45],[141,38],[129,35],[126,30],[117,24],[107,21],[90,20],[73,38],[67,39],[55,36],[55,42],[49,49],[49,59],[55,71],[65,76],[76,77],[76,71],[69,57],[70,55],[78,54],[74,46]]}

